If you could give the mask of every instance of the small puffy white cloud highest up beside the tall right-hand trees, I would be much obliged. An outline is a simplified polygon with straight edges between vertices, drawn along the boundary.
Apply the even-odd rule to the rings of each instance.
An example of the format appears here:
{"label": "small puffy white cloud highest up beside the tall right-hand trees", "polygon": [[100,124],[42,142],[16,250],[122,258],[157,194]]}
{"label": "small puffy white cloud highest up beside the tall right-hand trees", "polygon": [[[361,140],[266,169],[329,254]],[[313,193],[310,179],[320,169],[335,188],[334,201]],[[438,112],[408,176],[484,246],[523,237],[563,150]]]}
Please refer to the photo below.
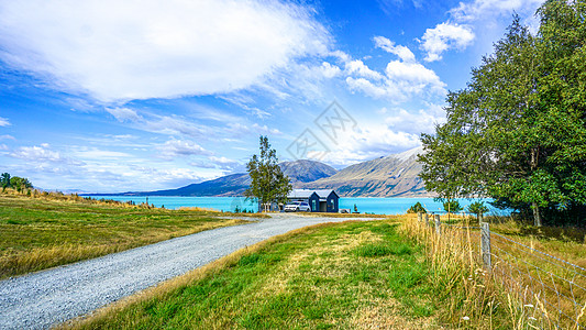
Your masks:
{"label": "small puffy white cloud highest up beside the tall right-hand trees", "polygon": [[427,62],[442,59],[442,53],[450,50],[464,50],[474,41],[474,32],[468,25],[457,23],[441,23],[433,29],[425,30],[421,48],[428,53]]}

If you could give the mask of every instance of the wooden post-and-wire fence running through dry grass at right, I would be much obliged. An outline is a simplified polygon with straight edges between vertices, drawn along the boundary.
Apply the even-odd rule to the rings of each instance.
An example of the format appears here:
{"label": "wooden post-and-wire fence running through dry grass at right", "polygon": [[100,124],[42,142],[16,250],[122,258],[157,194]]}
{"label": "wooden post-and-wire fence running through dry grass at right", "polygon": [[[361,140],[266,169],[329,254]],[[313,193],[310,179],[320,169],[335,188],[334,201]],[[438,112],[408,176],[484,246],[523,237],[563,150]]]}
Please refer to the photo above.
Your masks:
{"label": "wooden post-and-wire fence running through dry grass at right", "polygon": [[449,224],[439,215],[418,219],[440,237],[466,235],[474,261],[522,301],[521,312],[530,326],[586,329],[586,268],[490,231],[486,222],[480,227]]}

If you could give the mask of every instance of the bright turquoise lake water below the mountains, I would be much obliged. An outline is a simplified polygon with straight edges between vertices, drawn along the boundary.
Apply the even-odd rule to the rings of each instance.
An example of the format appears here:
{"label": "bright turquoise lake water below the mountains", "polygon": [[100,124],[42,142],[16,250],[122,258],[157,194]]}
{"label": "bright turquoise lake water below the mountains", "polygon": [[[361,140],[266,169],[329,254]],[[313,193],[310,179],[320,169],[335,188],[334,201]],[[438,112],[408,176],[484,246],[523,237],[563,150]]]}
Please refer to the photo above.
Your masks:
{"label": "bright turquoise lake water below the mountains", "polygon": [[[136,204],[145,202],[145,196],[92,196],[95,199],[106,198],[120,201],[132,200]],[[443,207],[439,201],[433,201],[433,198],[375,198],[375,197],[342,197],[340,198],[340,208],[354,209],[356,205],[358,212],[376,213],[376,215],[402,215],[406,213],[409,207],[416,202],[421,202],[423,207],[430,212],[442,212]],[[464,207],[468,206],[474,200],[458,199]],[[200,207],[210,208],[222,211],[233,211],[236,207],[239,209],[255,210],[255,206],[251,201],[245,200],[244,197],[184,197],[184,196],[148,196],[148,204],[156,207],[164,206],[167,209],[178,209],[180,207]],[[505,216],[506,211],[491,208],[487,205],[493,215]]]}

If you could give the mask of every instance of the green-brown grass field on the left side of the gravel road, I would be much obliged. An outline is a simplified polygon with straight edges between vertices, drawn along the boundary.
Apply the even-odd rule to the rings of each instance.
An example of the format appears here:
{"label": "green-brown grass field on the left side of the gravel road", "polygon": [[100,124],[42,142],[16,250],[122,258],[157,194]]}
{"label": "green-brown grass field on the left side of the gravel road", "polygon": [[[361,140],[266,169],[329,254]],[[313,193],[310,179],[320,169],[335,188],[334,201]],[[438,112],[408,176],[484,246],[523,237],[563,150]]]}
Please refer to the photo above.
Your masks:
{"label": "green-brown grass field on the left side of the gravel road", "polygon": [[246,222],[230,216],[0,195],[0,278]]}

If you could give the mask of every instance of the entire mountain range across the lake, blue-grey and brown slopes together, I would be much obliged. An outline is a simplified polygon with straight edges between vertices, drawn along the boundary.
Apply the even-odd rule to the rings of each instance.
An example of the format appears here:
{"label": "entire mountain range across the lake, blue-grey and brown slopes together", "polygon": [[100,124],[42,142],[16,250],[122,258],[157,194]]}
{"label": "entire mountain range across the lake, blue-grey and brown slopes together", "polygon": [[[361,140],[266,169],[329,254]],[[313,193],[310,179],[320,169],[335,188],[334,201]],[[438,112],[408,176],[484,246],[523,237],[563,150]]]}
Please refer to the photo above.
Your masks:
{"label": "entire mountain range across the lake, blue-grey and brown slopes together", "polygon": [[[417,162],[417,155],[421,152],[422,148],[417,147],[351,165],[341,170],[307,160],[283,162],[279,166],[291,179],[294,188],[335,189],[340,196],[345,197],[431,196],[419,178],[422,167]],[[247,173],[237,173],[177,189],[117,195],[242,196],[250,184],[251,178]]]}

